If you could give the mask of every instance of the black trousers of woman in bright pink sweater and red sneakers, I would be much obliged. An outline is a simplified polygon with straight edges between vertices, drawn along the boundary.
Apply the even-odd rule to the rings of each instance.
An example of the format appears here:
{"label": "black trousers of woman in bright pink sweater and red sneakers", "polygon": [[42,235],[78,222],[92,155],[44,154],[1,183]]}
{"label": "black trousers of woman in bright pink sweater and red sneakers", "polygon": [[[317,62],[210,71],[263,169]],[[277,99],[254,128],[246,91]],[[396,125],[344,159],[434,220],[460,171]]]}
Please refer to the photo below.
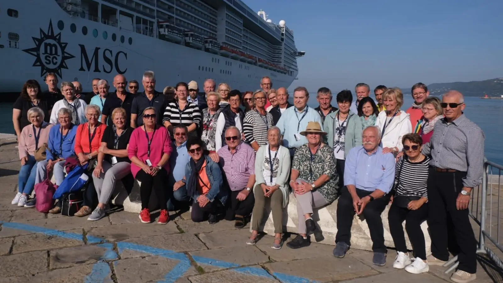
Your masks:
{"label": "black trousers of woman in bright pink sweater and red sneakers", "polygon": [[155,196],[159,201],[160,209],[167,209],[167,172],[166,169],[162,168],[157,172],[155,176],[145,173],[145,171],[140,170],[136,174],[136,179],[141,182],[140,186],[140,199],[141,199],[141,209],[148,208],[148,201],[150,200],[150,195],[152,194],[152,189],[155,191]]}

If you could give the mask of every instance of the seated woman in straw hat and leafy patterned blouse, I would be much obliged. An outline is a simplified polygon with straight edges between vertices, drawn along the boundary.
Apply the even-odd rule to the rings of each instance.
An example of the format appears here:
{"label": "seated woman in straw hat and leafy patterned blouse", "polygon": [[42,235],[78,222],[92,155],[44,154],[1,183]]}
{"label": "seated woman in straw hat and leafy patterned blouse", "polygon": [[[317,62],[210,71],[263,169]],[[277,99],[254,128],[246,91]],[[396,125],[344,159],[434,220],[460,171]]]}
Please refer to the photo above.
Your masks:
{"label": "seated woman in straw hat and leafy patterned blouse", "polygon": [[339,176],[336,171],[336,160],[332,149],[322,143],[318,122],[307,123],[305,131],[307,144],[295,151],[292,163],[290,186],[297,199],[298,233],[297,237],[287,243],[292,249],[307,247],[311,244],[309,235],[316,230],[311,218],[313,208],[318,208],[337,199]]}

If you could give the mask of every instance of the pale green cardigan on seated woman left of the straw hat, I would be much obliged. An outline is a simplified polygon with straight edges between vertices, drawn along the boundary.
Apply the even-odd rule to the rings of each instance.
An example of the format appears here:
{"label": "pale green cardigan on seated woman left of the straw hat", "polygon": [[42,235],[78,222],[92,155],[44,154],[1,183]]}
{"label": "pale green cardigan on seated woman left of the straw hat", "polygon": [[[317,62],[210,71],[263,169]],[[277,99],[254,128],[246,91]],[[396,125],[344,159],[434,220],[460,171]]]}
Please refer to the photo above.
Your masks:
{"label": "pale green cardigan on seated woman left of the straw hat", "polygon": [[[266,183],[264,180],[263,168],[264,164],[264,156],[266,155],[266,151],[269,148],[269,144],[265,146],[261,146],[255,155],[255,185],[254,189],[257,185]],[[288,187],[288,181],[290,177],[290,151],[283,147],[279,147],[280,154],[278,156],[280,160],[280,164],[278,166],[278,177],[276,178],[276,184],[280,185],[280,190],[283,192],[283,208],[287,206],[290,194],[290,188]],[[262,192],[262,190],[261,190]],[[259,193],[261,193],[259,192]],[[254,193],[257,193],[254,191]]]}

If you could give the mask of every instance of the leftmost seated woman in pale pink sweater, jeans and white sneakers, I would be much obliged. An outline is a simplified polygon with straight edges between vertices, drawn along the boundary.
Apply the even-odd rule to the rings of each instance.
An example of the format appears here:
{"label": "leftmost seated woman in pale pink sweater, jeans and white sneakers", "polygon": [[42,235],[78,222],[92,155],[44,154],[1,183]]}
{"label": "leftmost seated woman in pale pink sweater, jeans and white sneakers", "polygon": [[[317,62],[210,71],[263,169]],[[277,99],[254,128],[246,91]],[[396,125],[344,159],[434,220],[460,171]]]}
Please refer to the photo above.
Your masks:
{"label": "leftmost seated woman in pale pink sweater, jeans and white sneakers", "polygon": [[[28,196],[35,187],[35,174],[37,171],[37,161],[35,152],[38,147],[47,143],[49,131],[53,126],[44,122],[44,112],[38,107],[28,110],[28,119],[31,124],[27,125],[18,136],[19,159],[21,160],[21,169],[18,176],[18,193],[12,200],[12,204],[25,206],[28,204]],[[35,202],[30,202],[27,207],[34,207]]]}

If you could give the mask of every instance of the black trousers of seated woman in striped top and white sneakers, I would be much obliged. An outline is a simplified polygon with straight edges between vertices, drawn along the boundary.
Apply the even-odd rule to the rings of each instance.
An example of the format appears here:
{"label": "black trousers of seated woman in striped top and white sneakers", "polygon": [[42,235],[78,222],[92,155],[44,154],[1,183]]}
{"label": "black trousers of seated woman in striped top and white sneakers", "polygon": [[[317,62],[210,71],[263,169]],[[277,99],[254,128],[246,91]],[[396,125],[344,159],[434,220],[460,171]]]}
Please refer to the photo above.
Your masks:
{"label": "black trousers of seated woman in striped top and white sneakers", "polygon": [[426,260],[425,235],[421,230],[421,223],[428,218],[428,203],[421,205],[416,210],[399,207],[391,204],[388,212],[389,232],[395,243],[395,248],[399,252],[407,253],[407,244],[405,243],[405,234],[403,233],[402,223],[405,221],[405,230],[412,244],[412,253],[414,257]]}

